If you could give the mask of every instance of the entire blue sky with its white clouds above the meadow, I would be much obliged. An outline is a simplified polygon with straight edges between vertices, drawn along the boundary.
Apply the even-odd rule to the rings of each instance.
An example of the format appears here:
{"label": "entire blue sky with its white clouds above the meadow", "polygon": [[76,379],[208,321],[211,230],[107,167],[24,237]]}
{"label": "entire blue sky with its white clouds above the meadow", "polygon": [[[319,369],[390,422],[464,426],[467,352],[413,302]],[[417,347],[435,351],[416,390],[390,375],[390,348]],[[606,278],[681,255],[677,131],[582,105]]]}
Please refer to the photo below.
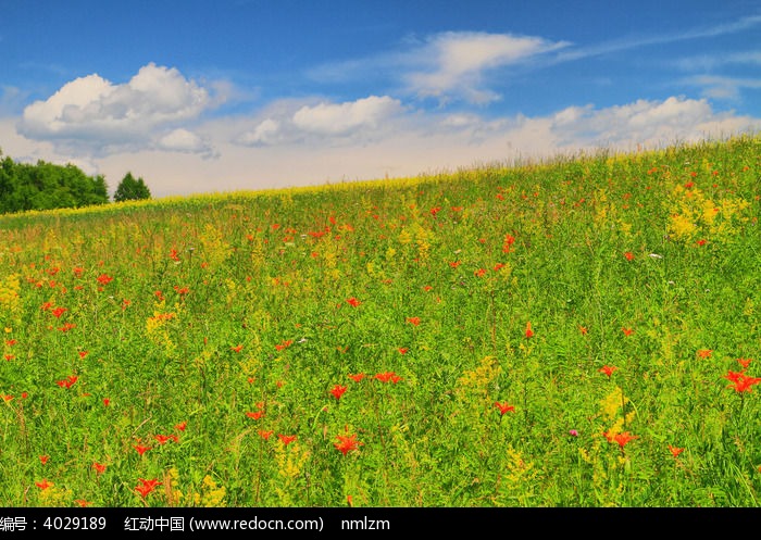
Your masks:
{"label": "entire blue sky with its white clouds above the meadow", "polygon": [[154,197],[761,128],[761,2],[0,0],[0,149]]}

